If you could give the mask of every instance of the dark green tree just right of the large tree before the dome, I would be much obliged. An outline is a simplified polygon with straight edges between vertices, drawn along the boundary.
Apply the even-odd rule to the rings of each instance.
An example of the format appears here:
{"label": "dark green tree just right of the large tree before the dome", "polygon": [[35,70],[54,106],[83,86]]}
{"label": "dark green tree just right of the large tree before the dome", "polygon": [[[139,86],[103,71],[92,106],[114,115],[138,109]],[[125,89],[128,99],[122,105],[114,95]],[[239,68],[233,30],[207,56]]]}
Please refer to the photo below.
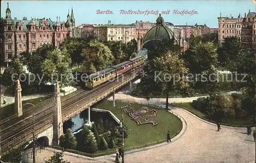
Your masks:
{"label": "dark green tree just right of the large tree before the dome", "polygon": [[[194,75],[195,89],[202,89],[205,93],[218,90],[218,72],[215,69],[218,65],[216,47],[214,43],[204,43],[201,40],[196,43],[196,41],[198,40],[195,39],[182,56],[186,62],[186,66],[189,68],[189,72]],[[199,80],[197,75],[199,75]],[[207,80],[202,81],[202,77],[207,78]],[[209,80],[212,77],[215,77],[215,79]]]}

